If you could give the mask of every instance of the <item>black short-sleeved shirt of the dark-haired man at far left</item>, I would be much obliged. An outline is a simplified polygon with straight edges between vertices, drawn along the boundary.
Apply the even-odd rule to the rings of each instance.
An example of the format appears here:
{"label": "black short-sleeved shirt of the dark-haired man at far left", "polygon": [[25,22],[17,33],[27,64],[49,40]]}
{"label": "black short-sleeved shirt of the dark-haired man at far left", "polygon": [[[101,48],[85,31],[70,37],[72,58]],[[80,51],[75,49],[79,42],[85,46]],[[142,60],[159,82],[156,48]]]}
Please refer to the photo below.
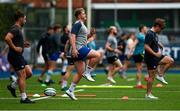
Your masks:
{"label": "black short-sleeved shirt of the dark-haired man at far left", "polygon": [[[21,47],[22,49],[24,49],[24,38],[23,38],[23,34],[22,34],[22,29],[17,25],[13,25],[11,27],[9,33],[11,33],[13,35],[13,38],[12,38],[13,44],[16,47]],[[9,48],[9,52],[17,53],[13,49],[11,49],[11,47]]]}

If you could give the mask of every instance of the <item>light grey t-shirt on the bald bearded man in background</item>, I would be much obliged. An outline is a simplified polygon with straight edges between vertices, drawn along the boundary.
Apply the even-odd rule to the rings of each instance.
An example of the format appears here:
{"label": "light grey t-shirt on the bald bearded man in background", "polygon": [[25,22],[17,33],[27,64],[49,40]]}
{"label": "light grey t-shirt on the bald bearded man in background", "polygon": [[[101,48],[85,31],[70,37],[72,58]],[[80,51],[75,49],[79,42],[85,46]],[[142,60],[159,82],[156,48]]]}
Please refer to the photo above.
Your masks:
{"label": "light grey t-shirt on the bald bearded man in background", "polygon": [[[116,39],[116,37],[109,36],[108,39],[107,39],[107,43],[110,44],[110,47],[112,49],[117,49],[117,39]],[[116,56],[116,53],[112,52],[112,51],[107,50],[106,53],[107,53],[107,57]]]}

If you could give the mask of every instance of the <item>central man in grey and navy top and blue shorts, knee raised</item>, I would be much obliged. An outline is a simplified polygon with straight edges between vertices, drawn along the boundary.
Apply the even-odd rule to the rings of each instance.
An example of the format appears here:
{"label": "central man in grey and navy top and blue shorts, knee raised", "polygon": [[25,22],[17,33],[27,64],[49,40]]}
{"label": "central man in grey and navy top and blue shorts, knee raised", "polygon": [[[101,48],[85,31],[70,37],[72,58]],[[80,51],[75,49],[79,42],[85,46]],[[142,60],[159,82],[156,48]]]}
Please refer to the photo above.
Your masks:
{"label": "central man in grey and navy top and blue shorts, knee raised", "polygon": [[[86,21],[85,10],[83,8],[77,8],[75,10],[75,17],[77,21],[74,23],[71,30],[70,52],[74,60],[77,74],[74,75],[70,88],[66,91],[66,94],[72,100],[77,100],[77,98],[74,95],[74,89],[76,85],[79,83],[79,81],[81,80],[82,76],[90,80],[91,75],[85,72],[86,59],[90,60],[88,70],[92,70],[92,68],[96,65],[96,63],[100,59],[100,54],[97,53],[97,51],[89,49],[87,47],[88,31],[87,31],[86,26],[84,25],[84,22]],[[93,80],[90,80],[90,81],[93,81]]]}

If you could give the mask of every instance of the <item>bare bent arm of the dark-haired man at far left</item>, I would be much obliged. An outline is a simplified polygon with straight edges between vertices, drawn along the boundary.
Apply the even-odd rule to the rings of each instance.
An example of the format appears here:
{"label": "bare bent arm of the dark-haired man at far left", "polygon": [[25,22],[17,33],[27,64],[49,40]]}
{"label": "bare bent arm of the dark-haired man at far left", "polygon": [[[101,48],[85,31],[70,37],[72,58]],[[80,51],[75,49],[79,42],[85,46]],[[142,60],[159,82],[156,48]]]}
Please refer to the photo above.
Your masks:
{"label": "bare bent arm of the dark-haired man at far left", "polygon": [[9,47],[11,49],[13,49],[14,51],[18,52],[18,53],[22,53],[22,48],[21,47],[16,47],[13,42],[12,42],[12,38],[13,38],[13,34],[12,33],[8,33],[5,37],[5,41],[6,43],[9,45]]}

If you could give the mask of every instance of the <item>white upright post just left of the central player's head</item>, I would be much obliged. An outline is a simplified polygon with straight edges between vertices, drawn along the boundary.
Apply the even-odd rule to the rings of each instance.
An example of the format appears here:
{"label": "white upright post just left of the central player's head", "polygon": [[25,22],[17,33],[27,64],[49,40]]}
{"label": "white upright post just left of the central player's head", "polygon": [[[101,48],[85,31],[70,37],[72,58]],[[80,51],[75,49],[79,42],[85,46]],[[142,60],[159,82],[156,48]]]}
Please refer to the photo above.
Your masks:
{"label": "white upright post just left of the central player's head", "polygon": [[72,0],[68,0],[68,25],[72,27]]}

